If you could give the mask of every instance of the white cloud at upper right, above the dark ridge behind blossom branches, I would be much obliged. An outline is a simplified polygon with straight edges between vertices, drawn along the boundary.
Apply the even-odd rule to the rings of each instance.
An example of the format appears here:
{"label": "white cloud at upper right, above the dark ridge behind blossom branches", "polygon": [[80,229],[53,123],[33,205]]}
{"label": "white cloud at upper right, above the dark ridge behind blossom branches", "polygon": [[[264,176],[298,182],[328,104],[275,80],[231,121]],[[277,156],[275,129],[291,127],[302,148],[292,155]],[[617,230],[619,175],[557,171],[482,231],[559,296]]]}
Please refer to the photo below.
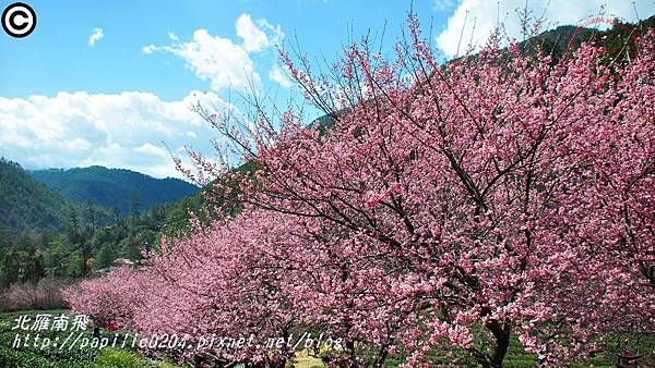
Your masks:
{"label": "white cloud at upper right, above the dark ridge behind blossom branches", "polygon": [[[436,0],[437,3],[446,3],[443,0]],[[486,42],[489,35],[497,26],[497,20],[504,24],[504,32],[508,36],[521,39],[521,20],[517,10],[525,8],[525,0],[463,0],[455,9],[453,15],[449,17],[445,29],[436,36],[437,46],[448,56],[454,57],[457,53],[457,44],[462,29],[464,36],[460,45],[458,54],[462,54],[469,41],[474,46],[481,46]],[[593,14],[598,14],[602,7],[605,14],[622,17],[633,22],[636,20],[634,8],[631,1],[607,0],[532,0],[527,2],[528,10],[532,11],[533,19],[544,15],[545,22],[551,28],[557,25],[577,25]],[[639,15],[645,19],[655,13],[655,3],[653,1],[635,2]],[[466,24],[464,20],[466,19]],[[475,32],[473,25],[475,23]],[[546,30],[546,29],[543,29]],[[473,32],[473,36],[472,36]]]}

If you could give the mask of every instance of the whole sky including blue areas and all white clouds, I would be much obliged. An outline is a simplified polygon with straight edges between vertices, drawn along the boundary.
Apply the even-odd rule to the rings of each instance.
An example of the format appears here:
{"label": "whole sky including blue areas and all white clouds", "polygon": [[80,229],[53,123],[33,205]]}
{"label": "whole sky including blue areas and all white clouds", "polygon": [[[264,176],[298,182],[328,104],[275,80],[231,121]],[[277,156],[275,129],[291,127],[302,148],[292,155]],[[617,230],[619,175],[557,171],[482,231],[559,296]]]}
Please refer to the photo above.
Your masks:
{"label": "whole sky including blue areas and all white clouds", "polygon": [[[37,13],[25,38],[0,34],[0,156],[25,168],[91,164],[154,176],[180,176],[162,142],[211,154],[215,134],[189,110],[194,91],[221,101],[247,81],[259,90],[295,96],[275,45],[297,36],[309,56],[334,59],[356,37],[386,23],[390,46],[409,1],[23,0]],[[10,1],[0,0],[4,9]],[[528,2],[550,26],[605,12],[634,21],[655,13],[652,0]],[[497,20],[517,37],[524,0],[415,0],[430,40],[452,57],[462,29],[484,41]],[[468,14],[468,15],[466,15]],[[467,19],[467,22],[464,22]],[[475,32],[473,22],[475,20]]]}

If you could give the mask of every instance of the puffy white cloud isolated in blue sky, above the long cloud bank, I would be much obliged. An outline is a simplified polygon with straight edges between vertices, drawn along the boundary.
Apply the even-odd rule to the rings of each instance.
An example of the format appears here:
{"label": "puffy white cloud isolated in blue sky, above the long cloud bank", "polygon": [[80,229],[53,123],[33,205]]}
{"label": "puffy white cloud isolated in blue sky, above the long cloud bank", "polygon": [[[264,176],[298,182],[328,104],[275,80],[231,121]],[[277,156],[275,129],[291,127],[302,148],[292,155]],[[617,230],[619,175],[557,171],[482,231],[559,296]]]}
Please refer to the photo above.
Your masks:
{"label": "puffy white cloud isolated in blue sky, above the long cloud bank", "polygon": [[163,51],[180,57],[199,78],[211,82],[213,90],[227,87],[248,89],[251,84],[257,86],[261,83],[251,53],[272,48],[284,34],[279,26],[273,26],[263,19],[253,21],[249,14],[239,16],[235,28],[242,39],[241,44],[210,35],[206,29],[200,28],[189,41],[180,41],[178,36],[169,33],[170,45],[147,45],[142,51]]}

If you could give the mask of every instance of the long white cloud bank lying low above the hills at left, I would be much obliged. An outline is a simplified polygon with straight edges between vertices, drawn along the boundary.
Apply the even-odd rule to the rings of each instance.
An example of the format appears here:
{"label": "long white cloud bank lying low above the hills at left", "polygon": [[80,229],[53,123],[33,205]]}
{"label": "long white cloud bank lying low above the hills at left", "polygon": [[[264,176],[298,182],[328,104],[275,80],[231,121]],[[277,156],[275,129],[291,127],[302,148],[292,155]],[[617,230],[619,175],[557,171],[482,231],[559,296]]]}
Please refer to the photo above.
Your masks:
{"label": "long white cloud bank lying low above the hills at left", "polygon": [[[0,97],[0,156],[26,168],[102,164],[153,176],[177,176],[164,143],[211,154],[212,128],[190,110],[199,93],[163,101],[151,93],[59,93],[53,97]],[[203,99],[225,107],[216,95]]]}

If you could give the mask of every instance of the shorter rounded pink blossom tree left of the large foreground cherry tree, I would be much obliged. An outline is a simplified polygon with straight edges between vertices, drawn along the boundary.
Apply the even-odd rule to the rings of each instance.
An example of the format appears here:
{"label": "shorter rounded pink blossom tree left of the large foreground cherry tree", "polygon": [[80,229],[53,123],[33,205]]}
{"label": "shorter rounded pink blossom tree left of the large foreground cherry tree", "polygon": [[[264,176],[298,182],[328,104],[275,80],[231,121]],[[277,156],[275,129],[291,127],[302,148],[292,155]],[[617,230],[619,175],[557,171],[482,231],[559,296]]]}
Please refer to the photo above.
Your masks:
{"label": "shorter rounded pink blossom tree left of the large foreground cherry tree", "polygon": [[[320,222],[261,210],[195,225],[191,238],[167,241],[148,257],[147,272],[162,281],[132,329],[249,341],[238,349],[193,352],[223,363],[284,366],[295,354],[290,346],[313,347],[321,333],[343,342],[334,347],[346,357],[331,365],[364,364],[355,348],[361,343],[374,348],[369,359],[384,360],[405,304],[388,303],[392,291],[367,260],[366,243]],[[272,348],[270,339],[282,339],[284,348]]]}

